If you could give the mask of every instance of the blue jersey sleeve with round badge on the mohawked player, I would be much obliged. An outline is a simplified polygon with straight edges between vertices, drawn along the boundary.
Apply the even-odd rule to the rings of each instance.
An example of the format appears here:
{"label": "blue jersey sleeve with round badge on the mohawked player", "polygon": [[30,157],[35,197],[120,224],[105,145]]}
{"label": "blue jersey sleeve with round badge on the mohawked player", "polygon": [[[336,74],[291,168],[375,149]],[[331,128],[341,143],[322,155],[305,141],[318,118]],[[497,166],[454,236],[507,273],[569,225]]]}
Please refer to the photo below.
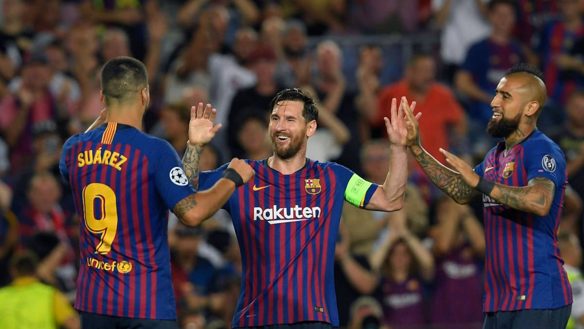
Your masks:
{"label": "blue jersey sleeve with round badge on the mohawked player", "polygon": [[527,181],[544,177],[554,182],[556,189],[566,181],[564,153],[551,140],[537,140],[524,146],[523,163]]}

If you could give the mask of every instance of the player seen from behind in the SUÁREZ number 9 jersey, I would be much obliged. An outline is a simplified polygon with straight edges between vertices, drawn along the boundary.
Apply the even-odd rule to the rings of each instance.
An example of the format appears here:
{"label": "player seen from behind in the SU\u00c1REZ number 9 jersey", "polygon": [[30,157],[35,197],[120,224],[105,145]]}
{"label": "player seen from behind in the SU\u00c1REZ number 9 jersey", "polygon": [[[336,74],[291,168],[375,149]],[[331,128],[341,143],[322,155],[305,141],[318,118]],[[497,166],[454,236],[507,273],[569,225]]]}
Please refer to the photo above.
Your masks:
{"label": "player seen from behind in the SU\u00c1REZ number 9 jersey", "polygon": [[[107,112],[108,122],[72,136],[62,150],[61,176],[71,185],[79,217],[75,309],[84,328],[178,328],[168,210],[197,225],[236,187],[221,179],[209,191],[196,192],[172,146],[140,131],[150,98],[147,86],[140,61],[107,62],[102,114]],[[242,160],[232,160],[230,167],[242,173],[239,180],[251,177]]]}

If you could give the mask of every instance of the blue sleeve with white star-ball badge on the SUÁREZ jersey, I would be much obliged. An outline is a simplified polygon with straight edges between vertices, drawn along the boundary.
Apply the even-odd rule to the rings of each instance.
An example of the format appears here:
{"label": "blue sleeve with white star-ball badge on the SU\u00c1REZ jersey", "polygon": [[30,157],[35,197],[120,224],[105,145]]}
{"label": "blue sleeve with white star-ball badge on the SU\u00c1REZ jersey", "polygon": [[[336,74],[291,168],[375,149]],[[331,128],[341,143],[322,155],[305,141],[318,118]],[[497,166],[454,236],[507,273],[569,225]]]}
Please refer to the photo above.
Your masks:
{"label": "blue sleeve with white star-ball badge on the SU\u00c1REZ jersey", "polygon": [[178,154],[166,140],[161,141],[157,152],[151,156],[158,157],[154,184],[166,207],[172,210],[180,200],[196,191],[186,177]]}

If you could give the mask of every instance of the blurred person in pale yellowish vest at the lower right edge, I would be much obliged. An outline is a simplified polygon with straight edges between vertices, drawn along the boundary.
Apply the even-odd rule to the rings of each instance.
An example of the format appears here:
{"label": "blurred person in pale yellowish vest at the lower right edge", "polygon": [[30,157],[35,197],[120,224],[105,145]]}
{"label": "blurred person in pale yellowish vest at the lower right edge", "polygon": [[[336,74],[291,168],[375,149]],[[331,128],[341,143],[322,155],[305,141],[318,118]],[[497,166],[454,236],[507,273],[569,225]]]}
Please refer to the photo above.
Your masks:
{"label": "blurred person in pale yellowish vest at the lower right edge", "polygon": [[570,231],[558,234],[558,246],[562,251],[564,269],[572,286],[572,313],[566,329],[584,326],[584,276],[582,276],[582,246],[578,237]]}

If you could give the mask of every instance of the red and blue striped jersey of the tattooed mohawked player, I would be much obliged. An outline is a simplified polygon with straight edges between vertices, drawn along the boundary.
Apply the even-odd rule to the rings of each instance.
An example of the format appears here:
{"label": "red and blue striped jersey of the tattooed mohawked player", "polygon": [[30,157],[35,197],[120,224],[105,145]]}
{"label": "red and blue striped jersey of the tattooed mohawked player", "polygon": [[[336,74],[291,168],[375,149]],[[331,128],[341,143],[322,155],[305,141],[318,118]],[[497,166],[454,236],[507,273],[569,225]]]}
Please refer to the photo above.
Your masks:
{"label": "red and blue striped jersey of the tattooed mohawked player", "polygon": [[535,129],[505,155],[498,143],[475,167],[485,179],[527,186],[544,177],[555,185],[550,213],[514,210],[483,195],[486,239],[484,311],[557,309],[572,303],[559,254],[558,228],[566,189],[566,162],[559,146]]}

